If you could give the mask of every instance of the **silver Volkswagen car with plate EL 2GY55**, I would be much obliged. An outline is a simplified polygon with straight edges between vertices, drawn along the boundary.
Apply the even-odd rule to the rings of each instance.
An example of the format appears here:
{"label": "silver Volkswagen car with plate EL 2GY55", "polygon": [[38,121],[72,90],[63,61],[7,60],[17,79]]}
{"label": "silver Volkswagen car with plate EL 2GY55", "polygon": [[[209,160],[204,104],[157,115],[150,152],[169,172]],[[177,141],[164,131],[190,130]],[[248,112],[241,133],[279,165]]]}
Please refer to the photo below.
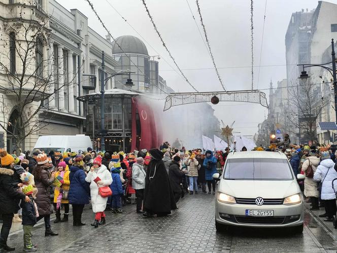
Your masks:
{"label": "silver Volkswagen car with plate EL 2GY55", "polygon": [[304,200],[297,179],[281,152],[231,152],[219,181],[215,226],[292,227],[302,233]]}

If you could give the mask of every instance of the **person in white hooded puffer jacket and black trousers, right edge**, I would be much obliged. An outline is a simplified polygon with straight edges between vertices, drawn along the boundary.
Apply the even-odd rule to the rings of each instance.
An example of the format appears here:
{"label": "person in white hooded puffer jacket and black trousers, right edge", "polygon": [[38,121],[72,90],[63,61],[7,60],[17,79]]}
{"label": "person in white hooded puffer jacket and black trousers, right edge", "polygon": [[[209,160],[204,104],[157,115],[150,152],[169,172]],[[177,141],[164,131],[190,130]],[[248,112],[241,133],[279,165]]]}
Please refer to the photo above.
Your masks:
{"label": "person in white hooded puffer jacket and black trousers, right edge", "polygon": [[[321,164],[317,167],[314,180],[322,182],[321,199],[324,201],[326,218],[324,222],[332,222],[333,215],[336,215],[336,195],[332,188],[332,180],[337,178],[334,170],[334,163],[330,159],[328,151],[321,153]],[[334,188],[337,187],[337,180],[334,181]]]}

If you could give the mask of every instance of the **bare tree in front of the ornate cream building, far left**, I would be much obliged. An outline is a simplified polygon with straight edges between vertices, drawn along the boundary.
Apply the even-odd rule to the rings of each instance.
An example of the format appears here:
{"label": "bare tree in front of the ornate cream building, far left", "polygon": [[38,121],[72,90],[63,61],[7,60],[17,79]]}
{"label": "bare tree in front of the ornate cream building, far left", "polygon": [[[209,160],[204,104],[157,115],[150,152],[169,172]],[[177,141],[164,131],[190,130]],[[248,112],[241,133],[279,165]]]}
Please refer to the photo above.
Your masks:
{"label": "bare tree in front of the ornate cream building, far left", "polygon": [[[9,7],[11,19],[1,22],[0,27],[0,91],[6,93],[0,98],[0,127],[16,139],[17,152],[26,137],[39,133],[48,124],[39,121],[41,110],[48,110],[48,100],[71,85],[69,80],[59,85],[57,71],[48,70],[48,64],[54,69],[63,68],[54,55],[48,54],[50,46],[49,17],[35,2],[30,5]],[[55,65],[56,64],[56,65]],[[74,76],[75,78],[75,76]],[[5,115],[13,115],[6,120]]]}

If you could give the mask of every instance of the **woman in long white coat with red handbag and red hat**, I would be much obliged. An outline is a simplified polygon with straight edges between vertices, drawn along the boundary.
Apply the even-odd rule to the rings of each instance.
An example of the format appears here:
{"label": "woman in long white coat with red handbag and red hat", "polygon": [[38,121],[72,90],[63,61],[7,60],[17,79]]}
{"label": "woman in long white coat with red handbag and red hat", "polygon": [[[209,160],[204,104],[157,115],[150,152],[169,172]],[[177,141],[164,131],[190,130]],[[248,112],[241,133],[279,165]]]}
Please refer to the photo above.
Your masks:
{"label": "woman in long white coat with red handbag and red hat", "polygon": [[[100,180],[94,181],[96,178]],[[98,225],[106,223],[106,215],[104,210],[107,207],[108,198],[102,198],[98,193],[98,187],[109,186],[112,183],[112,177],[110,172],[107,170],[107,167],[102,165],[102,157],[97,156],[92,163],[92,167],[88,175],[85,178],[85,181],[90,183],[90,196],[92,211],[95,213],[95,221],[91,226],[97,228]]]}

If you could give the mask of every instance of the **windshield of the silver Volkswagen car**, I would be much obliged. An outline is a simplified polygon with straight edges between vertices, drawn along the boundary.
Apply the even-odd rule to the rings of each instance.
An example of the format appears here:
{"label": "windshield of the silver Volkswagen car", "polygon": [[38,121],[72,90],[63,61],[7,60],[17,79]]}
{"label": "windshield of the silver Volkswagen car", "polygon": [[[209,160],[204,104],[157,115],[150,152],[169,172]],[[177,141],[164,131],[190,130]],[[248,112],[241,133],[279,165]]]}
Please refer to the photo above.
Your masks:
{"label": "windshield of the silver Volkswagen car", "polygon": [[287,160],[268,158],[229,159],[223,178],[228,180],[293,179]]}

